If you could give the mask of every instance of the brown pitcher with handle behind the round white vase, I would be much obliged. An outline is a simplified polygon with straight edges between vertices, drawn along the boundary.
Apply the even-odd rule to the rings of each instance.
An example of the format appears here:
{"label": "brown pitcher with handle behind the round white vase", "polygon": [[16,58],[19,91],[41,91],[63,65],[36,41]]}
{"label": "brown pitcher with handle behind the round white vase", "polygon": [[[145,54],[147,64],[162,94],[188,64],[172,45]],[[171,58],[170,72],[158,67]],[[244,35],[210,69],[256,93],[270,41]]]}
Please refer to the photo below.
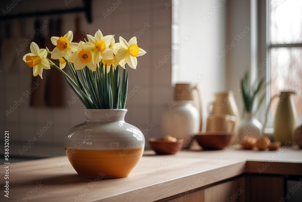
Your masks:
{"label": "brown pitcher with handle behind the round white vase", "polygon": [[175,85],[175,101],[179,100],[192,100],[193,105],[197,108],[200,117],[199,130],[202,128],[202,106],[201,106],[201,95],[197,85],[192,84],[176,84]]}

